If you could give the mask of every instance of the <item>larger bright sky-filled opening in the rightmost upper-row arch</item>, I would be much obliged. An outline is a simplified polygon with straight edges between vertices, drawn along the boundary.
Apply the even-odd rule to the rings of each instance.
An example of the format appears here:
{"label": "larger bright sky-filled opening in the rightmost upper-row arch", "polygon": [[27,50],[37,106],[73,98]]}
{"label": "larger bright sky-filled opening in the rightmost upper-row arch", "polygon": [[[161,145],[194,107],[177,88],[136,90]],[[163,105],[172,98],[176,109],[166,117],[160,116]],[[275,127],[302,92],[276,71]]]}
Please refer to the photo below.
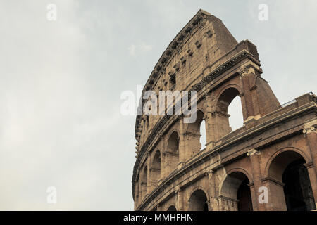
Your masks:
{"label": "larger bright sky-filled opening in the rightmost upper-row arch", "polygon": [[243,114],[242,114],[242,105],[241,98],[236,96],[228,107],[229,124],[232,131],[243,127]]}

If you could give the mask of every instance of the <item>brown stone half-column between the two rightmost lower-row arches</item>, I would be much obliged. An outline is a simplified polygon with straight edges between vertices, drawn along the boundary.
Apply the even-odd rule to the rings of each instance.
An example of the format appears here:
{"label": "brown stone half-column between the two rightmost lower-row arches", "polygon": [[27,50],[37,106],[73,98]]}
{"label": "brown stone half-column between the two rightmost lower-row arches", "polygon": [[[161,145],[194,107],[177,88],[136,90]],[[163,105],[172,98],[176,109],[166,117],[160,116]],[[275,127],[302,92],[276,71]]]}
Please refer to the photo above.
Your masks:
{"label": "brown stone half-column between the two rightmost lower-row arches", "polygon": [[256,203],[256,205],[254,205],[254,210],[258,210],[258,211],[264,211],[266,210],[266,206],[265,203],[259,203],[259,188],[262,185],[262,181],[261,181],[261,169],[260,169],[260,161],[259,161],[259,155],[261,153],[255,149],[251,149],[248,150],[247,155],[250,157],[250,161],[251,161],[251,168],[252,168],[252,175],[253,175],[253,182],[254,182],[254,193],[255,193],[255,200],[252,201],[253,203]]}

